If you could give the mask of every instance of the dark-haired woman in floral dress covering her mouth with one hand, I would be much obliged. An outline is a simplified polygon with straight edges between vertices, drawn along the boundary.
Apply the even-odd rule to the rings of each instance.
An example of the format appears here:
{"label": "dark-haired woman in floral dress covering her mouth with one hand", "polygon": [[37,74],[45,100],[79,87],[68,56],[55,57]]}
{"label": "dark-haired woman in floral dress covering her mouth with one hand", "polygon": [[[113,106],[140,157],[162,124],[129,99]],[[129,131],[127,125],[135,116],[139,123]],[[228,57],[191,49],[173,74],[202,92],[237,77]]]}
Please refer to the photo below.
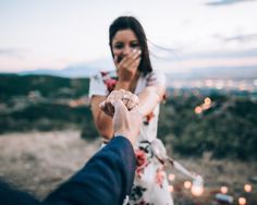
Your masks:
{"label": "dark-haired woman in floral dress covering her mouth with one hand", "polygon": [[113,137],[112,117],[101,111],[99,104],[108,99],[111,91],[124,89],[118,92],[117,98],[130,108],[128,104],[134,99],[125,91],[138,95],[144,123],[135,149],[137,169],[130,204],[172,205],[162,160],[155,156],[157,152],[151,147],[158,144],[154,142],[158,141],[159,104],[166,93],[164,75],[152,70],[146,35],[135,17],[120,16],[114,20],[109,28],[109,45],[117,70],[100,72],[90,81],[89,96],[95,124],[108,143]]}

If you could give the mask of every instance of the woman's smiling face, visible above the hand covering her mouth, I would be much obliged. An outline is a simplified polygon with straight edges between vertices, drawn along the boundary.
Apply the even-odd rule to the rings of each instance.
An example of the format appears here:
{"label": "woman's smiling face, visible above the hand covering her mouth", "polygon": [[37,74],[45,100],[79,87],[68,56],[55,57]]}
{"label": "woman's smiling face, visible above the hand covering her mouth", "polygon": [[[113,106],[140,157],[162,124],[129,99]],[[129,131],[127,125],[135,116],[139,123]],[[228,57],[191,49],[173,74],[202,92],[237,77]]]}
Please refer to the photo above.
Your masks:
{"label": "woman's smiling face, visible above the hand covering her mouth", "polygon": [[122,29],[117,32],[112,39],[111,47],[114,57],[118,58],[118,62],[134,49],[140,49],[138,39],[132,29]]}

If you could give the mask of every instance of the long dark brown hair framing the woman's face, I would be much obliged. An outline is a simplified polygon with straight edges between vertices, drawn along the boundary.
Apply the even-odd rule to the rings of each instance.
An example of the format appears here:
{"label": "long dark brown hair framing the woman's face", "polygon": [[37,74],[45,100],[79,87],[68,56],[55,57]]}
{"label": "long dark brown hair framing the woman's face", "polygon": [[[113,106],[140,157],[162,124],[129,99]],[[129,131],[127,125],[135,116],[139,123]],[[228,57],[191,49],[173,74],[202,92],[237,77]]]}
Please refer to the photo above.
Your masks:
{"label": "long dark brown hair framing the woman's face", "polygon": [[140,23],[133,16],[120,16],[115,19],[112,24],[109,27],[109,45],[111,48],[111,53],[113,56],[112,51],[112,39],[115,36],[117,32],[123,31],[123,29],[131,29],[136,35],[140,49],[142,49],[142,60],[138,67],[138,70],[144,73],[145,75],[152,71],[152,67],[150,63],[149,58],[149,49],[147,46],[147,39],[146,34],[140,25]]}

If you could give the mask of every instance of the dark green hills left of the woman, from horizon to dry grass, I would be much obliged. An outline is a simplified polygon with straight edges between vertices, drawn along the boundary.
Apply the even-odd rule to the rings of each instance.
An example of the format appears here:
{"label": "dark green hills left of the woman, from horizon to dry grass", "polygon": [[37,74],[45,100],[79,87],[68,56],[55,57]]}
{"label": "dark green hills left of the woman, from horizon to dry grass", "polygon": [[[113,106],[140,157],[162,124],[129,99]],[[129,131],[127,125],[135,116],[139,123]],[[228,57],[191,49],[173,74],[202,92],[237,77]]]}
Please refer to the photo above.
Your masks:
{"label": "dark green hills left of the woman, from horizon to dry grass", "polygon": [[88,79],[0,75],[0,133],[85,128],[96,136],[88,86]]}

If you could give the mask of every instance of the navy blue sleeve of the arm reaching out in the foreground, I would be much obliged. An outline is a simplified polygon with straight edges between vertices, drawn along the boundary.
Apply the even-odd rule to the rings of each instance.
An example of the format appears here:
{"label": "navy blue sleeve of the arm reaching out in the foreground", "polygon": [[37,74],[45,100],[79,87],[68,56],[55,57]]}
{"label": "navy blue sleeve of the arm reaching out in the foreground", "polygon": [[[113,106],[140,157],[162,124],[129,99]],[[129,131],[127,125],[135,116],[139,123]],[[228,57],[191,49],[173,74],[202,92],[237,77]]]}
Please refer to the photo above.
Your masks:
{"label": "navy blue sleeve of the arm reaching out in the foreground", "polygon": [[135,174],[131,142],[114,137],[82,170],[45,201],[54,205],[120,205],[130,194]]}

